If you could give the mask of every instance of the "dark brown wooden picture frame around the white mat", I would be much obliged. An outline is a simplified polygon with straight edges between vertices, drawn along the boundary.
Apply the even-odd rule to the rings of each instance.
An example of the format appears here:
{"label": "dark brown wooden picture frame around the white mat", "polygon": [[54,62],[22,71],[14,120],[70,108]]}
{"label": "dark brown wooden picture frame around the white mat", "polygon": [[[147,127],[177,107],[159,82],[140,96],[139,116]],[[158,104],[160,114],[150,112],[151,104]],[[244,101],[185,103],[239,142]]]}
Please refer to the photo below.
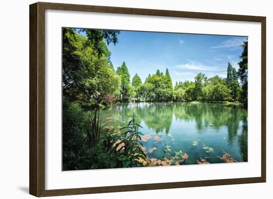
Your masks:
{"label": "dark brown wooden picture frame around the white mat", "polygon": [[[254,21],[262,24],[261,177],[45,190],[45,9]],[[37,2],[29,6],[29,193],[36,197],[266,182],[266,17]]]}

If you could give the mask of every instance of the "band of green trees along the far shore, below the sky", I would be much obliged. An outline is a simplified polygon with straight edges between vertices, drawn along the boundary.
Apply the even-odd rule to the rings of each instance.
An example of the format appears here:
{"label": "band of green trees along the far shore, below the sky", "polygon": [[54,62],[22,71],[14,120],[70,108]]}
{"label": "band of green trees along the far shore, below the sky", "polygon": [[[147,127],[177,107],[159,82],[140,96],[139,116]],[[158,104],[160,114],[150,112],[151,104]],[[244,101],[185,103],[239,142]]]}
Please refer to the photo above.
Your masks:
{"label": "band of green trees along the far shore, below the sky", "polygon": [[112,30],[63,29],[64,100],[92,109],[132,100],[240,101],[247,105],[247,41],[242,45],[238,71],[228,63],[226,78],[207,78],[200,72],[194,81],[176,82],[173,87],[168,68],[165,73],[157,70],[148,74],[144,82],[137,73],[131,82],[125,62],[115,71],[107,44],[116,44],[118,34]]}

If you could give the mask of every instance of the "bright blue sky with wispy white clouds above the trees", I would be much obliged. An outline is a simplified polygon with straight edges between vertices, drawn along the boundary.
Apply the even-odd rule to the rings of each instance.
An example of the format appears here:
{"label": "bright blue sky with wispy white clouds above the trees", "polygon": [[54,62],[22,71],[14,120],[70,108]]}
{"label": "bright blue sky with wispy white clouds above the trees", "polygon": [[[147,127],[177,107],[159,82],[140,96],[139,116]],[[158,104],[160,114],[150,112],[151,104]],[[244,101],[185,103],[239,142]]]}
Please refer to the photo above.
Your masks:
{"label": "bright blue sky with wispy white clouds above the trees", "polygon": [[197,73],[226,77],[228,62],[238,69],[242,42],[247,37],[121,31],[116,45],[110,44],[111,61],[117,69],[123,61],[131,79],[142,82],[157,69],[169,69],[173,84],[194,80]]}

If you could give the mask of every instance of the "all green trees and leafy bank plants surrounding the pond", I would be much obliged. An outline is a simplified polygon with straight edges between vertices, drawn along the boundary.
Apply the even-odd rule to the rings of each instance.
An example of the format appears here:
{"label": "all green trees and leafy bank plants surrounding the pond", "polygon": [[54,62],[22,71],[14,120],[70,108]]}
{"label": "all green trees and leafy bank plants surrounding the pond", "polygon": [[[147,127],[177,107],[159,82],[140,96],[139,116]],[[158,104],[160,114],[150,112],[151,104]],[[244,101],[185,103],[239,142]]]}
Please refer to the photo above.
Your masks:
{"label": "all green trees and leafy bank plants surrounding the pond", "polygon": [[247,106],[247,41],[238,71],[227,63],[227,78],[207,78],[200,72],[194,81],[173,85],[168,68],[148,74],[144,82],[137,74],[131,82],[126,62],[115,70],[108,45],[118,43],[119,33],[63,28],[64,170],[143,166],[139,160],[146,155],[134,114],[121,129],[125,134],[101,129],[99,110],[120,102],[228,101]]}

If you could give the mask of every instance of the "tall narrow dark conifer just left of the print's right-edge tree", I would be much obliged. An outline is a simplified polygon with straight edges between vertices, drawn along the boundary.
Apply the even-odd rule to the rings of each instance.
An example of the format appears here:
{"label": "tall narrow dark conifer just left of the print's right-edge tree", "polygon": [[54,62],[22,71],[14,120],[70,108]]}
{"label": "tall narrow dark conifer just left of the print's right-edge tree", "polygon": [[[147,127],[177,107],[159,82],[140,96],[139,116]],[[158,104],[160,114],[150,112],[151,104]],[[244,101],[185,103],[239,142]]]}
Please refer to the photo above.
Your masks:
{"label": "tall narrow dark conifer just left of the print's right-edge tree", "polygon": [[236,69],[231,66],[230,63],[228,63],[227,66],[227,78],[226,78],[227,86],[231,90],[231,97],[233,101],[236,101],[239,99],[239,93],[240,93],[240,85],[238,82],[238,76]]}

